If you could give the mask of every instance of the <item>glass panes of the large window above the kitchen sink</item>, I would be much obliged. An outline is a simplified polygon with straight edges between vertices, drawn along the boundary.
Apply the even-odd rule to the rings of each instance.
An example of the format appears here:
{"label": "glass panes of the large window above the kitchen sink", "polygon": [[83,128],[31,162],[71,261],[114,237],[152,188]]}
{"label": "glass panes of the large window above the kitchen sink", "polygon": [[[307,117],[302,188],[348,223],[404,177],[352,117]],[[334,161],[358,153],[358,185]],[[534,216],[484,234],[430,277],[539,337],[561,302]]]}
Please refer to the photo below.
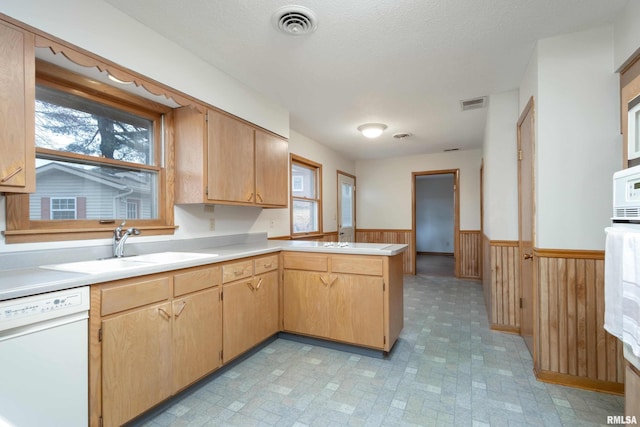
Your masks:
{"label": "glass panes of the large window above the kitchen sink", "polygon": [[[78,219],[158,217],[153,118],[38,85],[36,147],[47,151],[36,152],[31,220],[76,219],[53,215],[53,205],[50,218],[37,208],[72,195],[86,200]],[[145,208],[135,211],[130,198]]]}

